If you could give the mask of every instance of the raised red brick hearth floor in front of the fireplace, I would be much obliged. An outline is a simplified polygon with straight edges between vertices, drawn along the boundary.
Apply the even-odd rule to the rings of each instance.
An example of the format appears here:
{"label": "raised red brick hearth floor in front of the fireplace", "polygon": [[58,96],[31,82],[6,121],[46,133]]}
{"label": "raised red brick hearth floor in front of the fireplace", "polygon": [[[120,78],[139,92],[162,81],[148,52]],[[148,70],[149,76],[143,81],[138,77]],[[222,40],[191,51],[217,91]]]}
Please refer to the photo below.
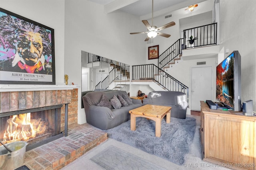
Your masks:
{"label": "raised red brick hearth floor in front of the fireplace", "polygon": [[23,165],[30,170],[59,170],[107,139],[107,133],[85,124],[68,128],[68,137],[26,152]]}

